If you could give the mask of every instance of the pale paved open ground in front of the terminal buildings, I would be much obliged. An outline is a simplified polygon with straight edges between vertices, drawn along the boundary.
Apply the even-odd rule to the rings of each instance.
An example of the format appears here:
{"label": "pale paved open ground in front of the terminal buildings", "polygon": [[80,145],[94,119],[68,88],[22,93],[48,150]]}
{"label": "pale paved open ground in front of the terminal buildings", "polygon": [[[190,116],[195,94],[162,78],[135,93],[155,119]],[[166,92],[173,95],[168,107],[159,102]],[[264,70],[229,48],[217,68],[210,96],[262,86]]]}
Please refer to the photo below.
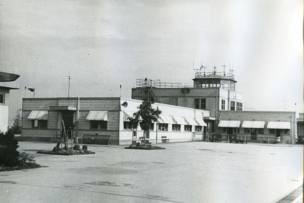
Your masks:
{"label": "pale paved open ground in front of the terminal buildings", "polygon": [[96,154],[35,154],[46,167],[0,172],[1,202],[276,202],[303,181],[303,145],[185,142],[165,150],[88,145]]}

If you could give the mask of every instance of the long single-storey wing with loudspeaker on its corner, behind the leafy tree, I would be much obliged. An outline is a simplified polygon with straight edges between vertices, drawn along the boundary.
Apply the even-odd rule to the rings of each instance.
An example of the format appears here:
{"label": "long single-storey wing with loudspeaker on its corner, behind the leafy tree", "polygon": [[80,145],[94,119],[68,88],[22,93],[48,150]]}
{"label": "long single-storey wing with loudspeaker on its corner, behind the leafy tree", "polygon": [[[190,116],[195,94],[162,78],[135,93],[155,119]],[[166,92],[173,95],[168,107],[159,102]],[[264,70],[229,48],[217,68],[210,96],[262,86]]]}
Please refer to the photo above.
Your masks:
{"label": "long single-storey wing with loudspeaker on its corner, behind the leafy tree", "polygon": [[[23,98],[20,140],[50,141],[69,137],[82,143],[84,135],[109,135],[111,144],[140,142],[143,130],[133,128],[132,117],[141,100],[123,98]],[[161,110],[158,123],[146,134],[151,143],[202,140],[209,111],[154,103]],[[64,123],[64,128],[62,125]],[[77,122],[77,125],[75,125]],[[71,138],[72,138],[71,137]]]}

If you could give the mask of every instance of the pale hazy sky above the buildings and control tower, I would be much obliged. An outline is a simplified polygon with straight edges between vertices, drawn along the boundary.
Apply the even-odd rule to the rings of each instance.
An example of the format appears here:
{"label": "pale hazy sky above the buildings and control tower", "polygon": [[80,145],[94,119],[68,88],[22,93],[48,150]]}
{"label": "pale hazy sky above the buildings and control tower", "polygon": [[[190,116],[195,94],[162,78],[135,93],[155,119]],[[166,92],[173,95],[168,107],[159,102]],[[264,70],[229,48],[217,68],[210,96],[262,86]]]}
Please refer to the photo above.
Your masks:
{"label": "pale hazy sky above the buildings and control tower", "polygon": [[[1,67],[23,97],[131,98],[136,79],[193,85],[233,66],[244,106],[303,112],[303,1],[0,0]],[[284,102],[285,100],[285,102]],[[296,103],[296,105],[295,105]]]}

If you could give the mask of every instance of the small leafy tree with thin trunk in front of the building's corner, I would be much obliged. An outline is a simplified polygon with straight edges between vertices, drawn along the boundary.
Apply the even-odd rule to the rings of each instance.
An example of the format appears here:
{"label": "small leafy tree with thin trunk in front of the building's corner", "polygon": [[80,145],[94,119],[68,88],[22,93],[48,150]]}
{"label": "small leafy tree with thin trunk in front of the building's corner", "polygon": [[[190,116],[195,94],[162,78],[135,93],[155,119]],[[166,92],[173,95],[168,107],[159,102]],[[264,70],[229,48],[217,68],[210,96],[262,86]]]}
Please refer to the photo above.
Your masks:
{"label": "small leafy tree with thin trunk in front of the building's corner", "polygon": [[128,118],[132,123],[133,127],[140,125],[143,130],[143,145],[146,140],[146,131],[150,130],[151,124],[158,121],[161,110],[158,108],[154,109],[151,101],[143,101],[138,107],[138,111],[133,113],[133,118]]}

